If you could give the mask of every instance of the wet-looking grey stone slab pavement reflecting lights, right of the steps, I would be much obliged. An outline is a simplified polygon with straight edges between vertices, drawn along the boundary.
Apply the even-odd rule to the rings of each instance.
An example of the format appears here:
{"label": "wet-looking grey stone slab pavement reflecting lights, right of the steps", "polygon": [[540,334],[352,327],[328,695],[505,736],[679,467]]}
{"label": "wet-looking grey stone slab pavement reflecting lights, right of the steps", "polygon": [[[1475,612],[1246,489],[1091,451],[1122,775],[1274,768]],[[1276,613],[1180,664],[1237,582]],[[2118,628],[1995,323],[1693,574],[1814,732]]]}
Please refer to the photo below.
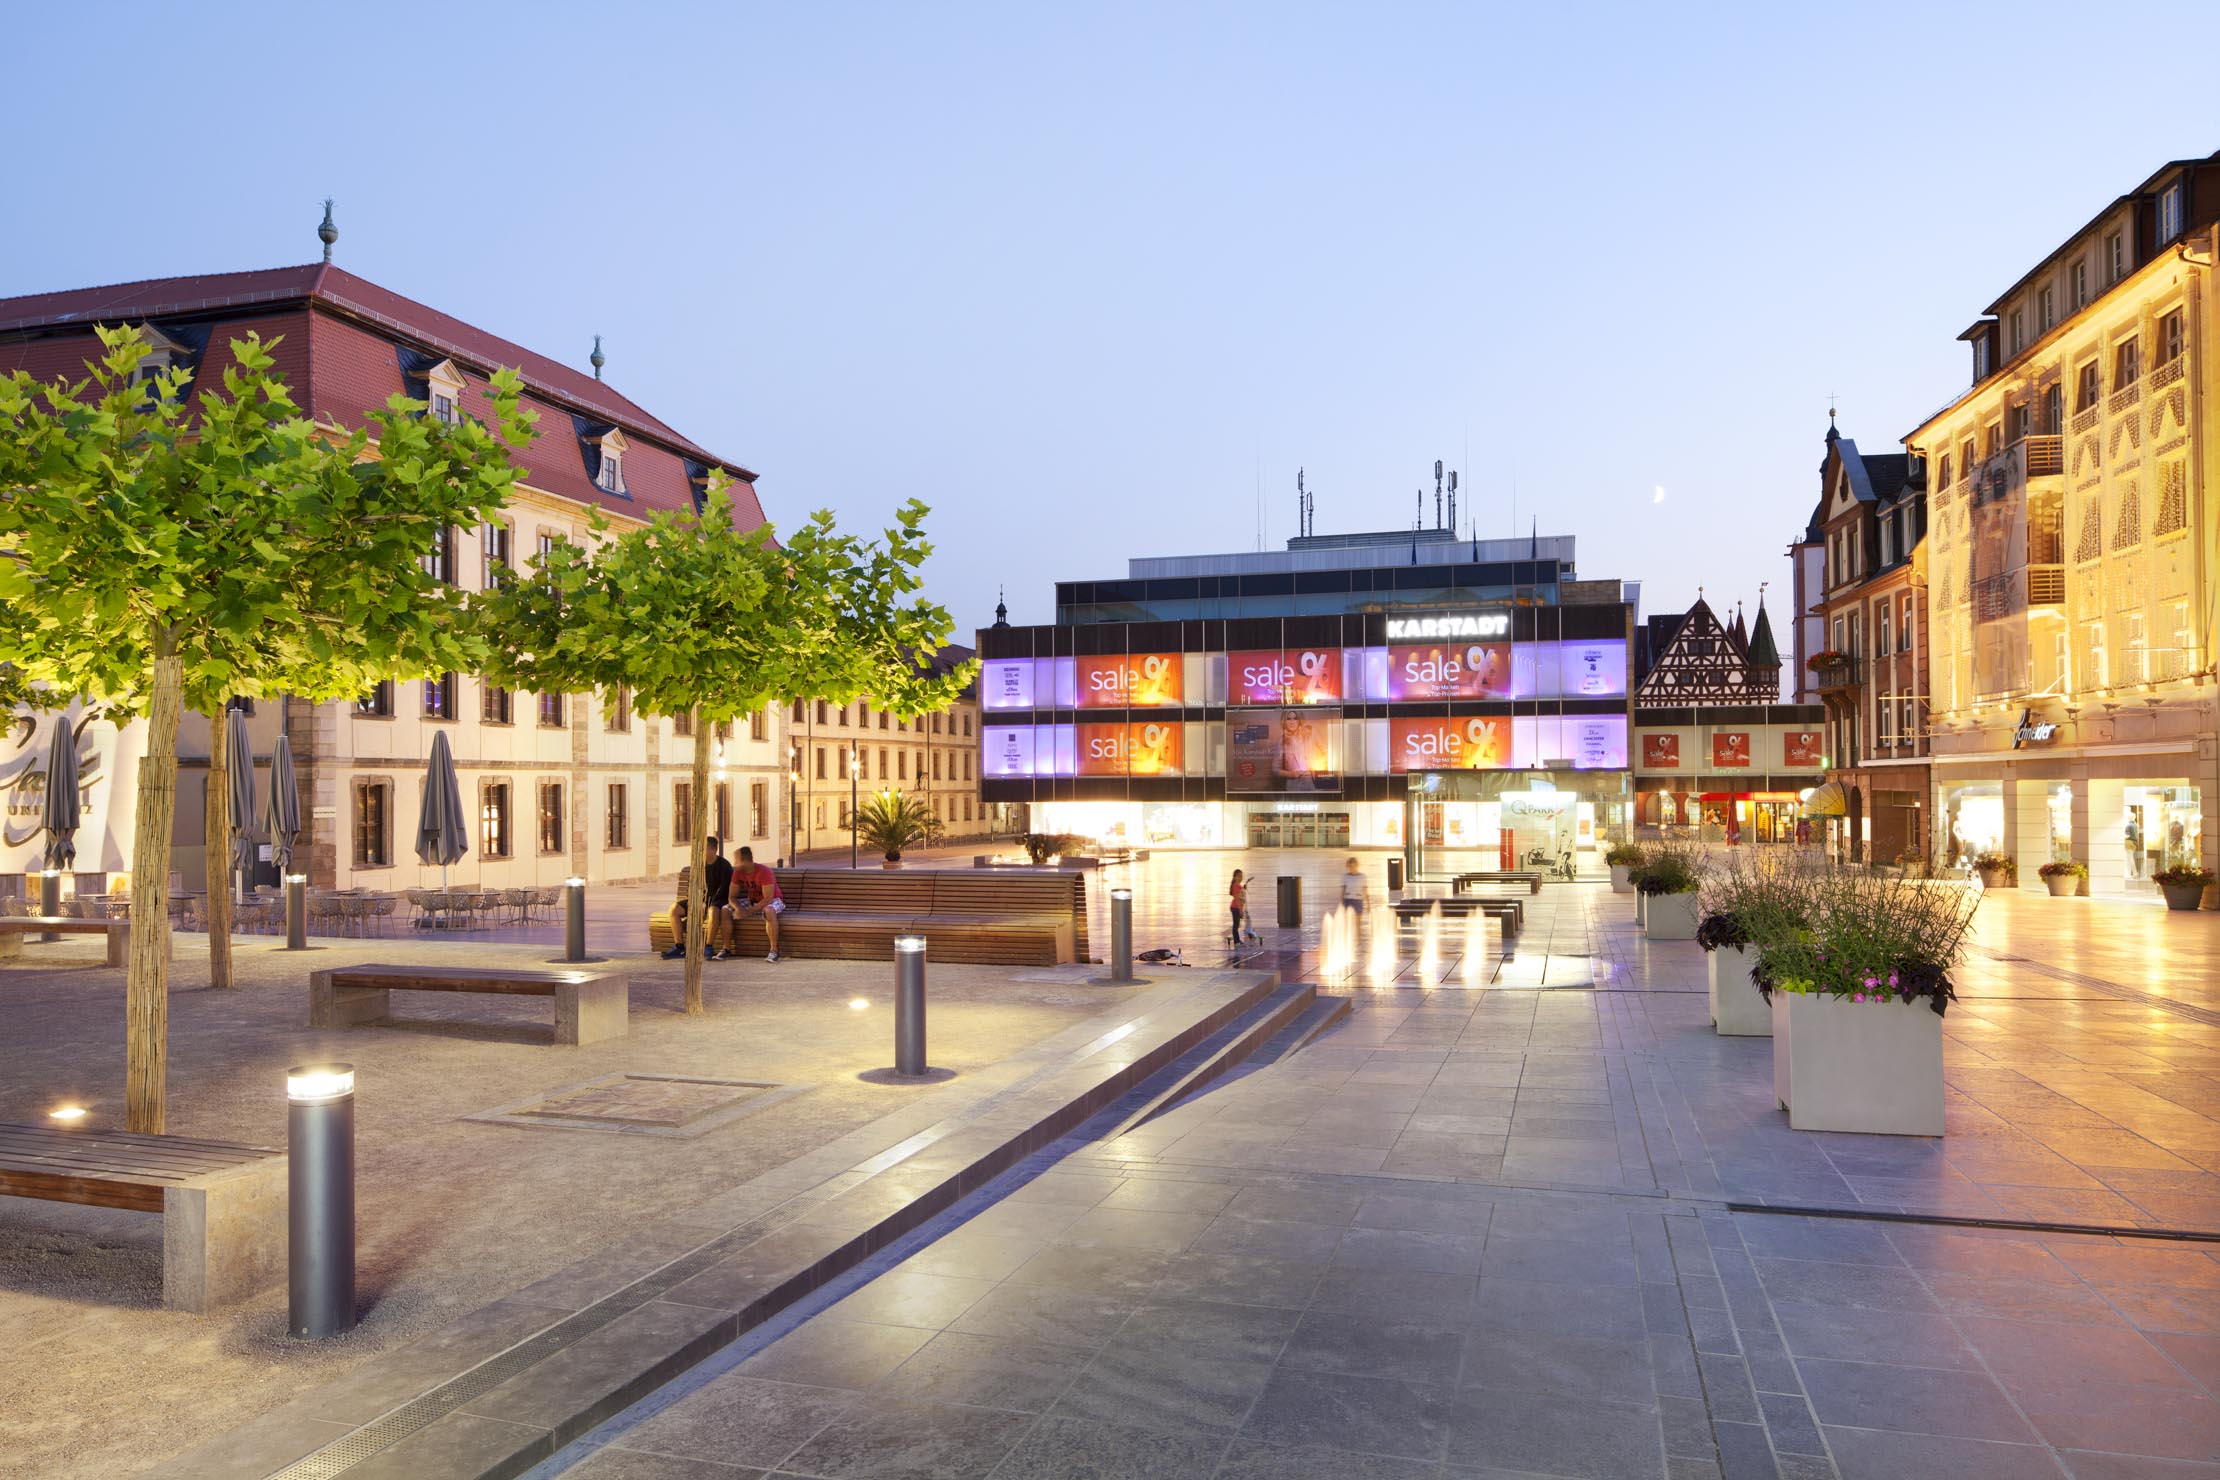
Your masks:
{"label": "wet-looking grey stone slab pavement reflecting lights, right of the steps", "polygon": [[1694,945],[1534,919],[1594,985],[1352,985],[539,1473],[2220,1478],[2220,1243],[2045,1227],[2213,1227],[2220,919],[1987,901],[1940,1143],[1789,1132]]}

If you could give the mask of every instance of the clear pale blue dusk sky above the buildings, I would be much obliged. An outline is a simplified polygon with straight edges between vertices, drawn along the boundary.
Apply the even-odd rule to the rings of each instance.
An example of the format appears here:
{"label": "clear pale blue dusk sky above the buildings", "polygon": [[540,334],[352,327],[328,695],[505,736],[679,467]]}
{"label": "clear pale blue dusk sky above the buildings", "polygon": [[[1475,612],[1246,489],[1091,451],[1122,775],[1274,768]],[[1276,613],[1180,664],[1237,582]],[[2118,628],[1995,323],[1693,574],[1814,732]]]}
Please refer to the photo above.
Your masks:
{"label": "clear pale blue dusk sky above the buildings", "polygon": [[[584,366],[779,521],[932,504],[959,635],[1294,528],[1785,597],[2014,277],[2220,149],[2220,9],[40,7],[0,295],[317,255]],[[2120,55],[2105,55],[2118,47]],[[2162,71],[2178,58],[2178,80]],[[1656,490],[1665,497],[1658,501]],[[1516,513],[1514,513],[1516,499]]]}

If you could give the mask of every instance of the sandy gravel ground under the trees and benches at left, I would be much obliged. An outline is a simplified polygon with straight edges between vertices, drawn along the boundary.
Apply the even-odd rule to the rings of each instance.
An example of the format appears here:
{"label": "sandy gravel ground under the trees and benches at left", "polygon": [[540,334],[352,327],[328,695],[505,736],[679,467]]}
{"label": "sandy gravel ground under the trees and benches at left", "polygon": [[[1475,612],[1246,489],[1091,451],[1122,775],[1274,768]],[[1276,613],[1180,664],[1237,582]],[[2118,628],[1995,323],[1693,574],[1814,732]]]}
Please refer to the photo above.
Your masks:
{"label": "sandy gravel ground under the trees and benches at left", "polygon": [[[710,963],[688,1021],[677,963],[628,956],[630,1036],[555,1047],[544,999],[408,994],[404,1025],[320,1032],[309,970],[349,961],[542,965],[544,945],[324,941],[309,956],[244,939],[240,987],[206,985],[206,943],[171,967],[169,1129],[284,1145],[284,1070],[357,1067],[360,1296],[342,1340],[284,1336],[284,1287],[215,1316],[160,1307],[160,1218],[0,1198],[0,1476],[124,1476],[342,1376],[602,1247],[746,1183],[919,1094],[1108,1010],[1103,987],[932,967],[932,1063],[950,1085],[859,1078],[892,1061],[886,963]],[[870,999],[864,1010],[850,999]],[[122,972],[98,945],[27,945],[0,963],[0,1121],[58,1103],[122,1123]],[[610,1072],[810,1083],[695,1141],[517,1129],[462,1116]]]}

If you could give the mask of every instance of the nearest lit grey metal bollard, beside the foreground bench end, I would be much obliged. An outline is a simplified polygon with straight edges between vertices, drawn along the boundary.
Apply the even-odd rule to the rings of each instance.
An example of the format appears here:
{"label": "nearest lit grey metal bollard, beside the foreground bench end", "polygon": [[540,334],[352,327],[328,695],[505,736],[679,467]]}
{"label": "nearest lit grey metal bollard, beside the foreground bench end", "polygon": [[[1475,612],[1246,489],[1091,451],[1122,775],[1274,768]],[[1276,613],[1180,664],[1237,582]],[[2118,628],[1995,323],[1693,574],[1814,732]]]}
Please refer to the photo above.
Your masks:
{"label": "nearest lit grey metal bollard, beside the foreground bench end", "polygon": [[355,1329],[355,1065],[286,1070],[286,1329]]}

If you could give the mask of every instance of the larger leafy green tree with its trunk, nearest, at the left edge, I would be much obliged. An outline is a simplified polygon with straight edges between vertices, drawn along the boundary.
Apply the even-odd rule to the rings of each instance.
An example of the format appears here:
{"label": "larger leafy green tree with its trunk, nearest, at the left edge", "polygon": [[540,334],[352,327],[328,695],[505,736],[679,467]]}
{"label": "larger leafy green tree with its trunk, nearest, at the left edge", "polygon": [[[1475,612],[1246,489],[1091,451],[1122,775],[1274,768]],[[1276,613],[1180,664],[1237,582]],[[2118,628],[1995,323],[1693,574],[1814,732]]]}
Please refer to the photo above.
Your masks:
{"label": "larger leafy green tree with its trunk, nearest, at the left edge", "polygon": [[220,391],[211,364],[186,399],[182,371],[138,373],[138,331],[98,333],[84,379],[0,379],[0,661],[56,701],[149,719],[127,1121],[160,1132],[180,710],[222,717],[235,695],[344,699],[471,668],[462,595],[424,555],[506,504],[508,448],[533,413],[497,373],[488,424],[442,424],[395,395],[349,430],[295,406],[255,335],[231,342]]}

